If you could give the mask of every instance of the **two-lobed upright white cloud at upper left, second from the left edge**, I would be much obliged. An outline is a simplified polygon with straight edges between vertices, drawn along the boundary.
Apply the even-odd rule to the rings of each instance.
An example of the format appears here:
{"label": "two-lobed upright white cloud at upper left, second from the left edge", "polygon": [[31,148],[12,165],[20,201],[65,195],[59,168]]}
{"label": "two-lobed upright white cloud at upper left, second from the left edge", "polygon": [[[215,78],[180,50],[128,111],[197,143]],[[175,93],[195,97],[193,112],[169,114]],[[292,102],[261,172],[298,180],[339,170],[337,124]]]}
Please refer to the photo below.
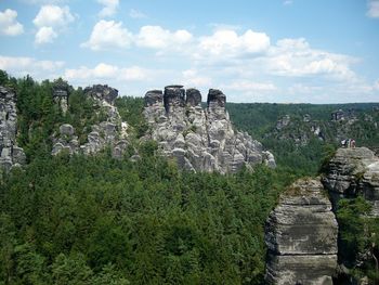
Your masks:
{"label": "two-lobed upright white cloud at upper left, second from the left edge", "polygon": [[42,5],[32,21],[38,28],[35,42],[37,44],[53,42],[58,33],[74,21],[75,17],[68,7]]}

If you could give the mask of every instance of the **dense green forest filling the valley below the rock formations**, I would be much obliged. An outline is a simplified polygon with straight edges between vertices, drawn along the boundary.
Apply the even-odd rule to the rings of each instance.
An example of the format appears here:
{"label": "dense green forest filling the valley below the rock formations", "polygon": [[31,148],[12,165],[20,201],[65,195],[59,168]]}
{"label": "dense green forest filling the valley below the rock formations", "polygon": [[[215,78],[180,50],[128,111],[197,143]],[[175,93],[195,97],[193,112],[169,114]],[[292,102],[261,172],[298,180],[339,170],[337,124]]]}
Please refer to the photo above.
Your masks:
{"label": "dense green forest filling the valley below the rock formations", "polygon": [[2,276],[259,284],[263,225],[284,187],[280,173],[182,173],[155,150],[141,145],[138,163],[60,155],[12,171],[0,187]]}

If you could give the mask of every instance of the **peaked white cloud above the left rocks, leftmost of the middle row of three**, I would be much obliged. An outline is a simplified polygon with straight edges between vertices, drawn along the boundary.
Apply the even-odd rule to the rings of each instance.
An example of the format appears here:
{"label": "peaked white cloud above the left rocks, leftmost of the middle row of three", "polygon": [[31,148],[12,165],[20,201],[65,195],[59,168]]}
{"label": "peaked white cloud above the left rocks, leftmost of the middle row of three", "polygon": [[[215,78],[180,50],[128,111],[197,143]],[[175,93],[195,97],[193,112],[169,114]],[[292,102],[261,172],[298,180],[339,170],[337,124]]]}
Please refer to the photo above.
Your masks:
{"label": "peaked white cloud above the left rocks, leftmost of the middle row of three", "polygon": [[94,51],[125,49],[132,43],[133,35],[122,27],[121,22],[101,20],[92,29],[90,39],[81,47]]}

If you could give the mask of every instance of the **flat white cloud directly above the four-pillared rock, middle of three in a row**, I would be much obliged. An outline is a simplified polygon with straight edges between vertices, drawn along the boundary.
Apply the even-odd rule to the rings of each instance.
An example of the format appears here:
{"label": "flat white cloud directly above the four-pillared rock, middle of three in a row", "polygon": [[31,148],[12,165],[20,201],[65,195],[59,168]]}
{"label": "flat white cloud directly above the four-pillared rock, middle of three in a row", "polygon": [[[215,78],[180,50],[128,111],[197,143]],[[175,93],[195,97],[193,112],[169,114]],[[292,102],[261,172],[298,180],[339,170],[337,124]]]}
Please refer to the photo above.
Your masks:
{"label": "flat white cloud directly above the four-pillared rock, middle of three in a row", "polygon": [[185,29],[170,31],[160,26],[143,26],[136,36],[136,44],[152,49],[178,49],[192,39],[192,34]]}

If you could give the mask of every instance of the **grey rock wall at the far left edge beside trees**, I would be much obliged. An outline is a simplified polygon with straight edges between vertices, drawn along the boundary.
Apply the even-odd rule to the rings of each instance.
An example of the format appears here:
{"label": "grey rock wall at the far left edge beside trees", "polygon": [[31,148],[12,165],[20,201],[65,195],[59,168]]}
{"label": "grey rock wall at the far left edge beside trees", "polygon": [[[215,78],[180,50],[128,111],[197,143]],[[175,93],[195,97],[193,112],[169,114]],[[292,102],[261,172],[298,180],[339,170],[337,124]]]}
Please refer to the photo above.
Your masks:
{"label": "grey rock wall at the far left edge beside trees", "polygon": [[26,160],[24,150],[16,145],[16,94],[0,86],[0,167],[5,170]]}

